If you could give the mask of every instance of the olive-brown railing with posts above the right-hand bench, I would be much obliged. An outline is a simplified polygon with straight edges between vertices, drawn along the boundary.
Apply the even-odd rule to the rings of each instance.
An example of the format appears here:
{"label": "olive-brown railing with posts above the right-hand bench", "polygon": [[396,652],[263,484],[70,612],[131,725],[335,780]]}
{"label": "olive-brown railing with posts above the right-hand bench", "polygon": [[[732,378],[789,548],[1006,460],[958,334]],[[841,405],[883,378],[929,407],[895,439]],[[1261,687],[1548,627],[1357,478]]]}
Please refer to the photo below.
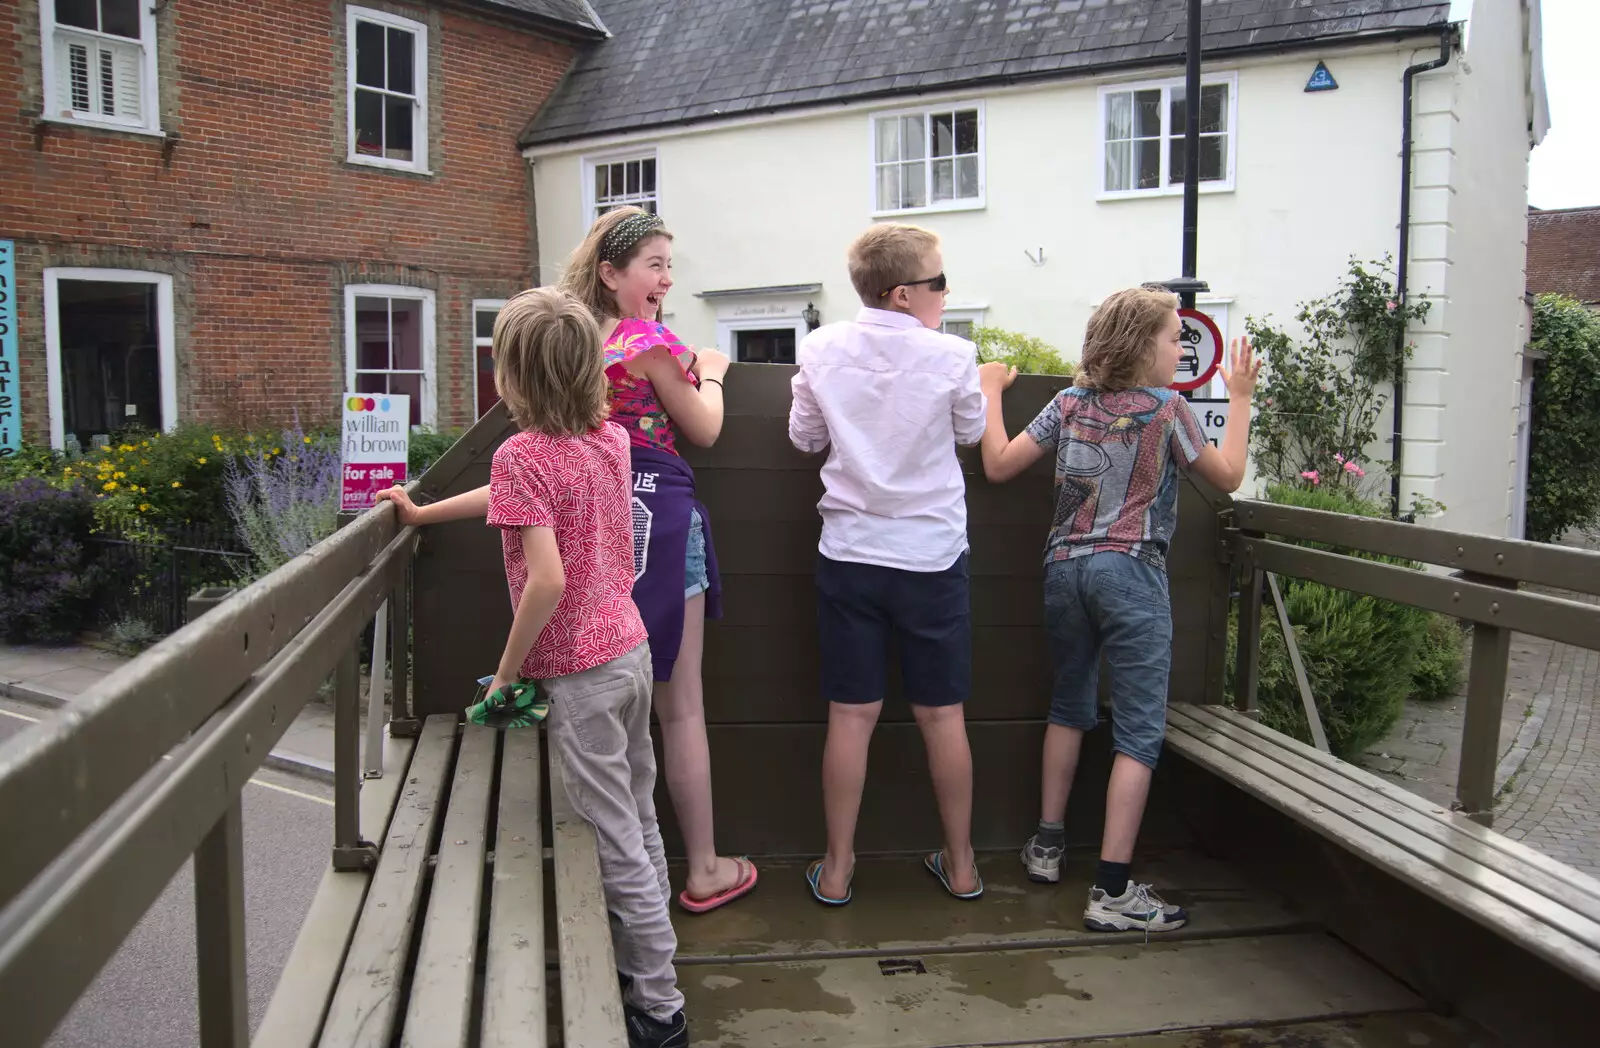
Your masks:
{"label": "olive-brown railing with posts above the right-hand bench", "polygon": [[[1472,659],[1456,808],[1483,826],[1491,826],[1512,632],[1600,650],[1600,606],[1522,592],[1520,586],[1600,594],[1600,552],[1435,531],[1395,520],[1250,499],[1237,501],[1232,515],[1230,552],[1242,570],[1235,706],[1256,714],[1261,594],[1267,573],[1466,619],[1472,622]],[[1451,568],[1454,574],[1419,571],[1296,542],[1398,557]]]}

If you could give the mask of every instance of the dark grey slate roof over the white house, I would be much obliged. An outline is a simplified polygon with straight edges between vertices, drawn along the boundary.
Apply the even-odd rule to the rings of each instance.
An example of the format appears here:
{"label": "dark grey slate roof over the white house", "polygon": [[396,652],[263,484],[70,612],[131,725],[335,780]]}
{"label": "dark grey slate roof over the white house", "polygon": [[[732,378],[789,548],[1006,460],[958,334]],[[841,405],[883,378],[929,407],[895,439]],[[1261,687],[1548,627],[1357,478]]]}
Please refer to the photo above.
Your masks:
{"label": "dark grey slate roof over the white house", "polygon": [[[485,0],[574,8],[582,0]],[[594,0],[581,54],[522,144],[814,101],[1178,61],[1182,0]],[[1442,26],[1446,0],[1210,0],[1205,46]],[[664,115],[667,110],[677,115]]]}

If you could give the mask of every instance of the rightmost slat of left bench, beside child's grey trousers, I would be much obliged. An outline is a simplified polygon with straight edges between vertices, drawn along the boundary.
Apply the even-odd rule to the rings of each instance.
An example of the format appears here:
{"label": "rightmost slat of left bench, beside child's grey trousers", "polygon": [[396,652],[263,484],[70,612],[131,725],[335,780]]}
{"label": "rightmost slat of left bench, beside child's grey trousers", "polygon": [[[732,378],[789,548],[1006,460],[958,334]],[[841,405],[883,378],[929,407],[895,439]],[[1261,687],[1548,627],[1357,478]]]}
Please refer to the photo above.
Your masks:
{"label": "rightmost slat of left bench, beside child's grey trousers", "polygon": [[616,982],[611,922],[600,885],[595,829],[566,798],[562,758],[550,752],[550,816],[555,819],[555,938],[562,966],[563,1043],[627,1048],[622,995]]}

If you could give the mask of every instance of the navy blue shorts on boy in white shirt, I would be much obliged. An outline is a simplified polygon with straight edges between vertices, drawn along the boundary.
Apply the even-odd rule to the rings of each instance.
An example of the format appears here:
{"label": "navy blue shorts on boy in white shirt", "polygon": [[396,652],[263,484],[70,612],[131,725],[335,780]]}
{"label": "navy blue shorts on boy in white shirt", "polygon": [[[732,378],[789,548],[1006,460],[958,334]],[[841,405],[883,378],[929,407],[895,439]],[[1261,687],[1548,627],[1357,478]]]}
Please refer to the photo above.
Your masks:
{"label": "navy blue shorts on boy in white shirt", "polygon": [[880,701],[893,638],[909,702],[966,701],[973,685],[966,554],[944,571],[902,571],[818,557],[816,598],[824,699]]}

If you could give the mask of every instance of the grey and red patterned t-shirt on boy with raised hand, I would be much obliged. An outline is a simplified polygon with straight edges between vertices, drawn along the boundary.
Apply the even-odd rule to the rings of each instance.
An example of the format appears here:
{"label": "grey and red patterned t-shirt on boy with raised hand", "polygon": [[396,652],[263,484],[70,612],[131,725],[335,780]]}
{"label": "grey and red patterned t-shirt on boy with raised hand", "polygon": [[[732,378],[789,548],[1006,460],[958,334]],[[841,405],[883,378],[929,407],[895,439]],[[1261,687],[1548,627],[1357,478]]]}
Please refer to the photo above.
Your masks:
{"label": "grey and red patterned t-shirt on boy with raised hand", "polygon": [[1064,389],[1027,435],[1056,450],[1056,515],[1045,563],[1118,552],[1166,568],[1178,526],[1178,464],[1206,445],[1170,389]]}

